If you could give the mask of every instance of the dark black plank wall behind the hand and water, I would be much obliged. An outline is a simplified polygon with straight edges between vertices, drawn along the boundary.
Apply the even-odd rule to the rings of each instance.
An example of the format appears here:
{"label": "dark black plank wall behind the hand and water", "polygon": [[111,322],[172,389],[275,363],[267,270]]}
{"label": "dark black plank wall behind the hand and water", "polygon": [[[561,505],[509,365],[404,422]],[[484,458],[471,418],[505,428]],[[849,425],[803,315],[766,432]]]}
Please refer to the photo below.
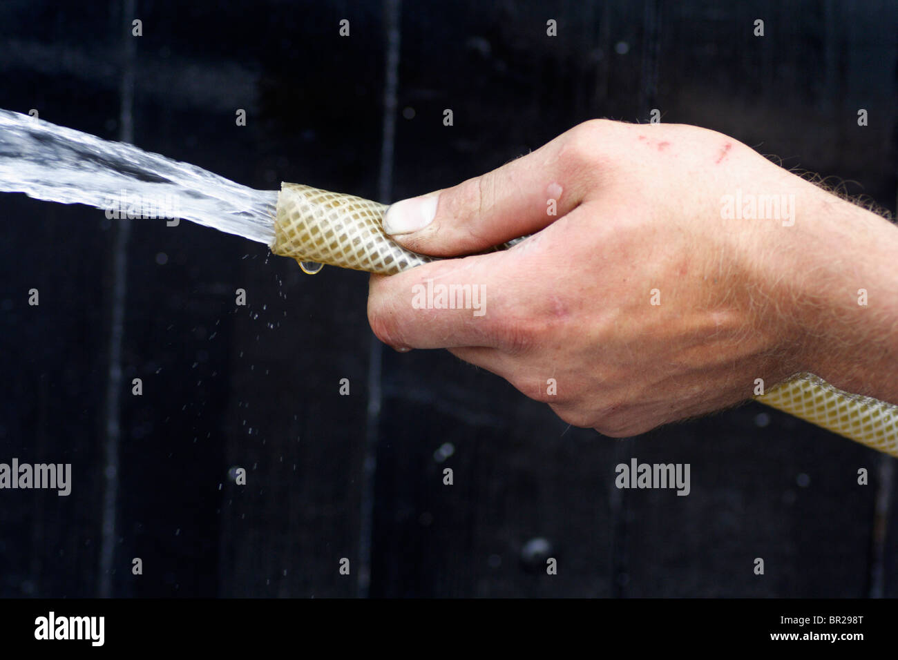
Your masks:
{"label": "dark black plank wall behind the hand and water", "polygon": [[[254,188],[384,200],[657,108],[894,211],[896,23],[850,0],[4,0],[0,107]],[[23,195],[0,222],[0,462],[74,481],[0,491],[0,595],[898,595],[894,459],[797,418],[750,403],[612,440],[443,351],[382,350],[364,274]],[[691,495],[614,488],[631,457],[691,463]]]}

